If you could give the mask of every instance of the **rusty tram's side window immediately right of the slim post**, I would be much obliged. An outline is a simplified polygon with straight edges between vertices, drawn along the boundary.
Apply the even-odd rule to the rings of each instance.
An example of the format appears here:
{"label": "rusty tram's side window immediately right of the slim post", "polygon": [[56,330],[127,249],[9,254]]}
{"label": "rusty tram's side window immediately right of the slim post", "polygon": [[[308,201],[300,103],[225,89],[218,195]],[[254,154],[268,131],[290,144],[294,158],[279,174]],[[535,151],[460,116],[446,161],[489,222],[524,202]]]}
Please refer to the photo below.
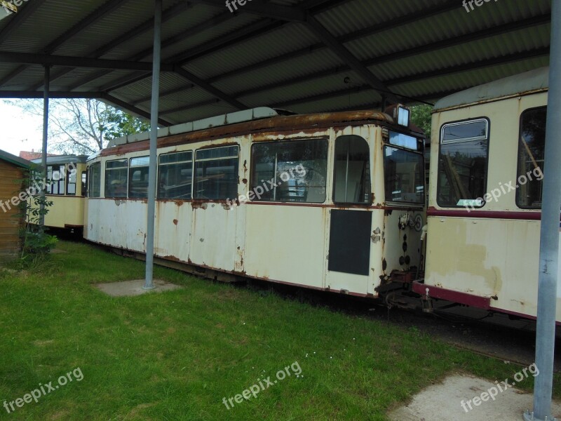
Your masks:
{"label": "rusty tram's side window immediately right of the slim post", "polygon": [[191,199],[193,152],[161,154],[158,165],[158,199]]}

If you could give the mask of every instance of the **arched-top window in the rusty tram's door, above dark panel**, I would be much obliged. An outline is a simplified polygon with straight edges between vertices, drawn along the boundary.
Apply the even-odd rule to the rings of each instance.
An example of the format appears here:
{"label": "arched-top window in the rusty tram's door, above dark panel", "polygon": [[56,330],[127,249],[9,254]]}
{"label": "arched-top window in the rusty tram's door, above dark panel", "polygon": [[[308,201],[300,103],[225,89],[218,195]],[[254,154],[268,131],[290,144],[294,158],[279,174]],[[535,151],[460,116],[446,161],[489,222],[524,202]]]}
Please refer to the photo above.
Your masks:
{"label": "arched-top window in the rusty tram's door, above dark panel", "polygon": [[[415,140],[415,146],[417,140]],[[335,176],[333,201],[370,203],[370,148],[356,135],[335,140]]]}

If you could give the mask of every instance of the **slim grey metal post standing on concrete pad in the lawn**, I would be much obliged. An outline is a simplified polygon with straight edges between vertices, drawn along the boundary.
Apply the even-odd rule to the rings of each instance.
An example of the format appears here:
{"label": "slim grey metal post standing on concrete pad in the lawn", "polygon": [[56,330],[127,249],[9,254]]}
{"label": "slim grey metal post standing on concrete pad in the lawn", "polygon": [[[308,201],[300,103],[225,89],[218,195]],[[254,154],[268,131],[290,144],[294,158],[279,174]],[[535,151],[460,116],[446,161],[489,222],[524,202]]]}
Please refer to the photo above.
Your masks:
{"label": "slim grey metal post standing on concrete pad in the lawn", "polygon": [[162,0],[154,1],[154,54],[152,55],[152,102],[150,109],[150,166],[148,172],[148,220],[146,233],[146,279],[144,289],[154,289],[154,214],[156,213],[156,147],[160,96]]}

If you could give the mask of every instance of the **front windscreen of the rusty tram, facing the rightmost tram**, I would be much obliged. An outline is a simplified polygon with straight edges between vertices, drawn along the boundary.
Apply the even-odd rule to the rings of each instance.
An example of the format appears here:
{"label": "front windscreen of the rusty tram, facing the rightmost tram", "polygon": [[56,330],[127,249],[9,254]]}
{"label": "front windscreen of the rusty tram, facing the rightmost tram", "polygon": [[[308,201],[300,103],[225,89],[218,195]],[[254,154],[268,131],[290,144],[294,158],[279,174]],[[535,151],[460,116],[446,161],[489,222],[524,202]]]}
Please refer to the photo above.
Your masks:
{"label": "front windscreen of the rusty tram, facing the rightmost tram", "polygon": [[424,203],[424,159],[421,154],[384,147],[386,201]]}

